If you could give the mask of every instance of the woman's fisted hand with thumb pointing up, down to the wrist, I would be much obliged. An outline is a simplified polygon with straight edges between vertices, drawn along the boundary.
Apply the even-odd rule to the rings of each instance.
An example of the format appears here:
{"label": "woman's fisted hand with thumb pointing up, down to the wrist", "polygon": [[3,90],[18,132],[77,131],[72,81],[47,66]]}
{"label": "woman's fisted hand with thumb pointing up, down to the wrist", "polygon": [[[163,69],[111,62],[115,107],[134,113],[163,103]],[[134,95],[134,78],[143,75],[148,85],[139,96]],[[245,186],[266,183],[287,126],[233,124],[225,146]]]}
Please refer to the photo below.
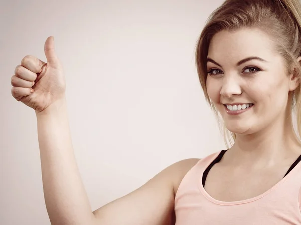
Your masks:
{"label": "woman's fisted hand with thumb pointing up, down to the wrist", "polygon": [[55,53],[53,37],[47,38],[44,51],[47,63],[31,55],[25,56],[11,78],[13,97],[36,113],[65,96],[64,72]]}

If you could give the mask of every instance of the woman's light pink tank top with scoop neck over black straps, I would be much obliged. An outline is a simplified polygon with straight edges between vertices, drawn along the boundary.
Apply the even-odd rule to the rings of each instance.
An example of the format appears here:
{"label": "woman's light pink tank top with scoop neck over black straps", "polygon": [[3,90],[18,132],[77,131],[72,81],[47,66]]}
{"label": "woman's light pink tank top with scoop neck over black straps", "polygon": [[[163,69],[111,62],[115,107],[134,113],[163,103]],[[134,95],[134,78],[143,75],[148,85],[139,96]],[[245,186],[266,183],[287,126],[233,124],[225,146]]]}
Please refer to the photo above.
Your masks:
{"label": "woman's light pink tank top with scoop neck over black straps", "polygon": [[301,162],[265,193],[242,201],[212,198],[202,175],[220,151],[200,161],[185,175],[175,197],[176,225],[301,224]]}

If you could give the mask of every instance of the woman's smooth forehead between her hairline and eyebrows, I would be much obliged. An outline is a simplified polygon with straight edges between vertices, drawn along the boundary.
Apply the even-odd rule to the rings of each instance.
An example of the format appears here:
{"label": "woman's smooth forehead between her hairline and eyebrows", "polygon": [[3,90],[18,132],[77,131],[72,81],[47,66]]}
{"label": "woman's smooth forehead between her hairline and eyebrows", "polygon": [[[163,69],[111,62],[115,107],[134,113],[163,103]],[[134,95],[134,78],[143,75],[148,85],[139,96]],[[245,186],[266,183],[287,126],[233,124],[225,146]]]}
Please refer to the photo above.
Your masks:
{"label": "woman's smooth forehead between her hairline and eyebrows", "polygon": [[213,36],[208,57],[221,63],[225,60],[237,63],[251,56],[270,61],[279,56],[275,49],[272,38],[257,28],[223,30]]}

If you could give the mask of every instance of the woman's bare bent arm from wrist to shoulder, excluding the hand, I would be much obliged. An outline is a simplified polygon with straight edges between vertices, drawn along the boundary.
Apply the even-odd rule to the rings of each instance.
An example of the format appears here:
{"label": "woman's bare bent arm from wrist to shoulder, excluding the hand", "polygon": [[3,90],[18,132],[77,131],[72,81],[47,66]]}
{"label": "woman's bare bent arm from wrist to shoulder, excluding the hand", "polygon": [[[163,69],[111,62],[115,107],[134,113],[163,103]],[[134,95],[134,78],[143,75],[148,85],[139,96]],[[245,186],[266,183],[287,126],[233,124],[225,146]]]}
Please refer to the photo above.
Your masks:
{"label": "woman's bare bent arm from wrist to shoulder, excluding the hand", "polygon": [[180,181],[197,162],[175,163],[142,187],[92,212],[70,138],[65,100],[37,113],[42,179],[51,224],[170,225]]}

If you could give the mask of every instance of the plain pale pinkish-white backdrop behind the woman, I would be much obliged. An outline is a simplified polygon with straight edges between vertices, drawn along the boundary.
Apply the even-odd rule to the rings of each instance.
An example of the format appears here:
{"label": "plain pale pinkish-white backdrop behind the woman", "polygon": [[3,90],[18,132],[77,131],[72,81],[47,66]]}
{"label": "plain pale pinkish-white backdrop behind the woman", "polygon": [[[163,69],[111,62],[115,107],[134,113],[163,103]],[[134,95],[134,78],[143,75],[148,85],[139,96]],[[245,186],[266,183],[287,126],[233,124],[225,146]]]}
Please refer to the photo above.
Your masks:
{"label": "plain pale pinkish-white backdrop behind the woman", "polygon": [[1,0],[0,224],[50,224],[34,111],[11,96],[30,54],[55,37],[74,152],[92,209],[165,167],[225,149],[194,53],[223,0]]}

